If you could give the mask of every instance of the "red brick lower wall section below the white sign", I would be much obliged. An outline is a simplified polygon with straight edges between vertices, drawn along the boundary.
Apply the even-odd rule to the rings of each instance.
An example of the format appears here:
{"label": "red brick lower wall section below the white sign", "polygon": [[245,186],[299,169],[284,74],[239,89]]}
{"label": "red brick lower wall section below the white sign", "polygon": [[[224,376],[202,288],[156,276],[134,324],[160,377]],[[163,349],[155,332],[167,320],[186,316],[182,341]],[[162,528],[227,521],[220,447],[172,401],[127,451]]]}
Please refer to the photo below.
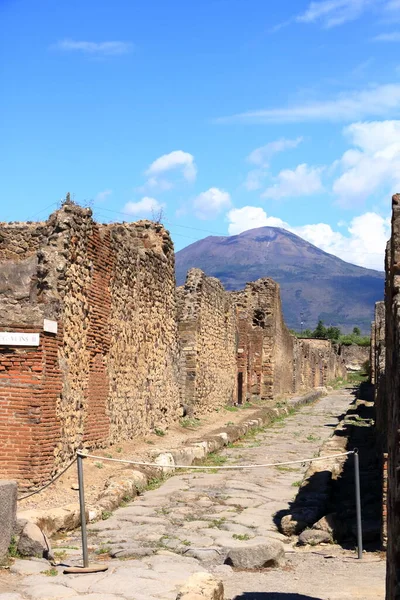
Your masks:
{"label": "red brick lower wall section below the white sign", "polygon": [[41,331],[37,348],[0,347],[0,473],[22,486],[43,481],[53,469],[60,436],[54,402],[61,389],[59,342]]}

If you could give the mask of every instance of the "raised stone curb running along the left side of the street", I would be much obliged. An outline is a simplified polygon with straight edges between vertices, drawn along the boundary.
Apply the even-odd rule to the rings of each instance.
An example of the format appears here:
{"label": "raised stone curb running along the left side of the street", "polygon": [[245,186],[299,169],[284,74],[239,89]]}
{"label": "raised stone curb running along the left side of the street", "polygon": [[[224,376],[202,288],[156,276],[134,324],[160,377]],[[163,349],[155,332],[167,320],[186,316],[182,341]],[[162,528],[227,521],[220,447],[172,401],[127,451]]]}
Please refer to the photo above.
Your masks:
{"label": "raised stone curb running along the left side of the street", "polygon": [[[124,502],[125,498],[129,497],[132,500],[135,496],[143,492],[151,479],[160,476],[163,471],[165,472],[165,467],[168,467],[168,473],[173,473],[175,471],[175,464],[188,467],[198,464],[211,452],[221,450],[229,443],[239,440],[248,431],[257,427],[265,427],[276,418],[289,415],[291,410],[311,404],[326,395],[326,393],[326,388],[316,388],[303,396],[289,398],[284,406],[261,408],[255,413],[252,419],[243,421],[237,425],[229,425],[217,429],[204,439],[195,440],[186,446],[182,446],[182,448],[172,448],[165,452],[155,452],[152,459],[160,467],[164,467],[163,469],[157,467],[123,469],[117,476],[111,477],[108,480],[107,487],[100,494],[96,504],[88,507],[88,521],[101,519],[105,512],[112,512],[118,508]],[[18,519],[27,519],[35,523],[48,536],[59,531],[71,531],[79,527],[80,524],[78,503],[45,510],[25,510],[19,512],[17,517]]]}

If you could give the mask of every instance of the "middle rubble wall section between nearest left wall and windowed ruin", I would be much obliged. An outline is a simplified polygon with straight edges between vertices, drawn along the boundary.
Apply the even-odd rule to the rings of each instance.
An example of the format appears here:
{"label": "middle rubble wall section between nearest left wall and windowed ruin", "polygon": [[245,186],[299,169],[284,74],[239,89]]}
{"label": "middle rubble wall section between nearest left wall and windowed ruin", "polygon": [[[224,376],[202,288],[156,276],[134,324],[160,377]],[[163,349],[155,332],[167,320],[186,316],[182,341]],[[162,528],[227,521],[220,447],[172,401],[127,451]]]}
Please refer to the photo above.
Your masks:
{"label": "middle rubble wall section between nearest left wall and windowed ruin", "polygon": [[178,288],[180,381],[184,404],[200,414],[236,399],[236,321],[221,282],[191,269]]}

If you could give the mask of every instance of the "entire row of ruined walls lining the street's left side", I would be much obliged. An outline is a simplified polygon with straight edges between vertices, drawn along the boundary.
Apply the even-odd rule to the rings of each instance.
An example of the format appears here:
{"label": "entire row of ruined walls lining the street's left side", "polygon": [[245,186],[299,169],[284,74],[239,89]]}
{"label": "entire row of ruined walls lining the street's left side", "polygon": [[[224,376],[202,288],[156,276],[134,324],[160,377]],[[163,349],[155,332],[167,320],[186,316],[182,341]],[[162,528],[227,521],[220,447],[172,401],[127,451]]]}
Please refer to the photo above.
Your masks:
{"label": "entire row of ruined walls lining the street's left side", "polygon": [[164,430],[182,406],[198,415],[345,374],[330,342],[289,333],[271,279],[228,293],[193,269],[176,289],[162,225],[101,225],[70,201],[0,226],[0,338],[0,474],[22,486],[78,448]]}

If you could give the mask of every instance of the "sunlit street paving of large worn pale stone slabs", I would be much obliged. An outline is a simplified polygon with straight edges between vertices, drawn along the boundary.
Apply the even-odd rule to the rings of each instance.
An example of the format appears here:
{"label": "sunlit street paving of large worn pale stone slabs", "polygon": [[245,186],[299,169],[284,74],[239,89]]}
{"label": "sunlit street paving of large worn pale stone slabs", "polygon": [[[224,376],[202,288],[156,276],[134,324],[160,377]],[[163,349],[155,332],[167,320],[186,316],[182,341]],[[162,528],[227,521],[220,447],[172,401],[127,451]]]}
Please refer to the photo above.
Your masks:
{"label": "sunlit street paving of large worn pale stone slabs", "polygon": [[[343,390],[303,407],[224,450],[225,465],[314,456],[351,401]],[[288,509],[306,468],[296,464],[176,475],[89,526],[91,561],[108,561],[106,573],[62,575],[58,567],[57,575],[48,576],[37,564],[30,570],[26,561],[17,561],[13,570],[20,576],[8,593],[20,594],[16,600],[174,600],[193,572],[210,570],[223,579],[229,599],[251,600],[252,593],[258,598],[262,592],[263,600],[289,599],[291,594],[303,594],[305,600],[383,600],[385,566],[379,557],[357,563],[354,553],[332,545],[319,554],[305,552],[278,532],[274,515]],[[246,546],[276,541],[284,542],[287,550],[284,569],[247,572],[222,564],[230,549],[245,552]],[[68,548],[80,546],[78,534],[58,545],[65,547],[63,562],[79,564],[76,551],[69,553]],[[124,560],[110,560],[109,554],[118,551]],[[328,554],[334,557],[324,557]],[[0,600],[8,599],[0,593]]]}

